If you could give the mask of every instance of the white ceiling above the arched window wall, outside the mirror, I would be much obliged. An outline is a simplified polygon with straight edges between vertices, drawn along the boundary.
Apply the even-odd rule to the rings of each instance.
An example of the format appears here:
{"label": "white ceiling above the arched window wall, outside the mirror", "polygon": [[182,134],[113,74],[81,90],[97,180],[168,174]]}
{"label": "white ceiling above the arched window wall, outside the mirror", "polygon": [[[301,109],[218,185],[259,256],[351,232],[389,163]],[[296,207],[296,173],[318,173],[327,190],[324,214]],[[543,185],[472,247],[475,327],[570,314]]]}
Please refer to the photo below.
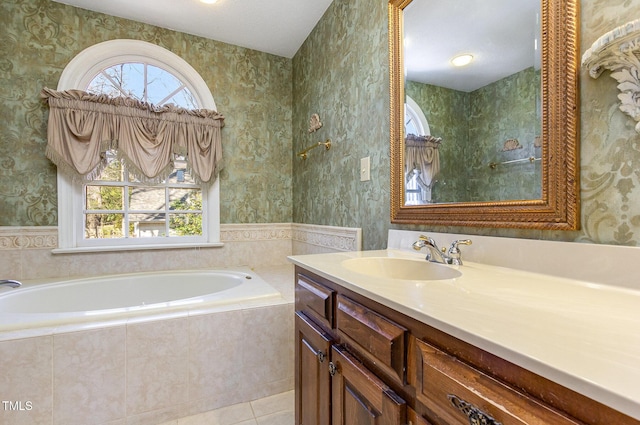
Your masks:
{"label": "white ceiling above the arched window wall, outside the mirror", "polygon": [[292,58],[332,0],[54,0]]}

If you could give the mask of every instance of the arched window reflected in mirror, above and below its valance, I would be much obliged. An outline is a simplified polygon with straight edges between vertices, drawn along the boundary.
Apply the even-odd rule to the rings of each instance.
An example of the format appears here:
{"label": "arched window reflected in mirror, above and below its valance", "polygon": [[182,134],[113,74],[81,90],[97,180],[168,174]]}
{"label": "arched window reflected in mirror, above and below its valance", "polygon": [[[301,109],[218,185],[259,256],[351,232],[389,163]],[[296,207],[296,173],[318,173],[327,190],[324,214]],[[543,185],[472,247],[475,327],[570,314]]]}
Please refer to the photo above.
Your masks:
{"label": "arched window reflected in mirror, above and below its valance", "polygon": [[[411,97],[407,96],[404,105],[404,134],[429,136],[431,130],[427,117]],[[405,174],[405,205],[422,205],[431,202],[431,186],[420,176],[419,169],[409,170]]]}

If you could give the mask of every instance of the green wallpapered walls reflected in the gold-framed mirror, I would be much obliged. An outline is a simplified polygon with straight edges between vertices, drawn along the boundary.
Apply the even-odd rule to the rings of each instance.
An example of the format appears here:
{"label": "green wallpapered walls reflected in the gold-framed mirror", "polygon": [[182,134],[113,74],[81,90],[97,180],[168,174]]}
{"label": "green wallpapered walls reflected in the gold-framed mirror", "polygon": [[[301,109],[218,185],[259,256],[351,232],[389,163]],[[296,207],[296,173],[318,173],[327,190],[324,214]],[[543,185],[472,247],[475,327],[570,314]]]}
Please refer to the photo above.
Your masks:
{"label": "green wallpapered walls reflected in the gold-framed mirror", "polygon": [[[435,202],[538,199],[540,162],[500,163],[540,157],[534,146],[541,126],[540,77],[533,68],[469,93],[407,81],[405,92],[422,109],[431,135],[441,137]],[[521,148],[503,151],[516,139]]]}

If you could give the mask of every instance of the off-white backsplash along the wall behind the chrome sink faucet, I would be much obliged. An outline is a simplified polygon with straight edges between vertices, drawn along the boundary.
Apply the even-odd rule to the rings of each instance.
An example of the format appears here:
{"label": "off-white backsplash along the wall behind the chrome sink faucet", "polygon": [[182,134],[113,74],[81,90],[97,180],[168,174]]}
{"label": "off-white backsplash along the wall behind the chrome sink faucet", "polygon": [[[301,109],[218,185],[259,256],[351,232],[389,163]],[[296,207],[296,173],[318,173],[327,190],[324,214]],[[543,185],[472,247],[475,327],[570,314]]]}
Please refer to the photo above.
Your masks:
{"label": "off-white backsplash along the wall behind the chrome sink faucet", "polygon": [[420,235],[447,249],[454,240],[471,239],[460,247],[463,261],[640,290],[640,247],[389,230],[387,248],[415,252],[411,245]]}

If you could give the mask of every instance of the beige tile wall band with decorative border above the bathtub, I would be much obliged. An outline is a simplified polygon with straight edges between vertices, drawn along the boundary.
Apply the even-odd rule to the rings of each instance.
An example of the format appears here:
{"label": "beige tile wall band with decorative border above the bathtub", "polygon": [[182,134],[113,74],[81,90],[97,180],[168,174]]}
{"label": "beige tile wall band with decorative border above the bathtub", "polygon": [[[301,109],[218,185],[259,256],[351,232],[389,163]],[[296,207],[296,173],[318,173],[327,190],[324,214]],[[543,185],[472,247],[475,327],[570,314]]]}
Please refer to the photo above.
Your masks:
{"label": "beige tile wall band with decorative border above the bathtub", "polygon": [[[360,250],[361,230],[299,223],[222,224],[220,248],[53,254],[56,227],[0,226],[1,278],[18,280],[113,273],[262,267],[287,264],[292,254]],[[126,261],[123,261],[126,256]]]}

